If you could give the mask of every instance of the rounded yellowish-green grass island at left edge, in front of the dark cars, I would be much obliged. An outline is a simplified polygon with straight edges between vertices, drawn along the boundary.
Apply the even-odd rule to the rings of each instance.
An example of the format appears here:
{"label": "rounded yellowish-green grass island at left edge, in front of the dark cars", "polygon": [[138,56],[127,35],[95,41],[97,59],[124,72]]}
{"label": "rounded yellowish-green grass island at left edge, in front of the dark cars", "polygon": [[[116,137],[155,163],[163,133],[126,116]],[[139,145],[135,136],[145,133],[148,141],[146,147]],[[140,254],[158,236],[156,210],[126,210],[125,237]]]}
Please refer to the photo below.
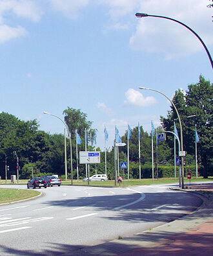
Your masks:
{"label": "rounded yellowish-green grass island at left edge, in front of the dark cars", "polygon": [[26,189],[0,189],[0,204],[38,196],[39,191]]}

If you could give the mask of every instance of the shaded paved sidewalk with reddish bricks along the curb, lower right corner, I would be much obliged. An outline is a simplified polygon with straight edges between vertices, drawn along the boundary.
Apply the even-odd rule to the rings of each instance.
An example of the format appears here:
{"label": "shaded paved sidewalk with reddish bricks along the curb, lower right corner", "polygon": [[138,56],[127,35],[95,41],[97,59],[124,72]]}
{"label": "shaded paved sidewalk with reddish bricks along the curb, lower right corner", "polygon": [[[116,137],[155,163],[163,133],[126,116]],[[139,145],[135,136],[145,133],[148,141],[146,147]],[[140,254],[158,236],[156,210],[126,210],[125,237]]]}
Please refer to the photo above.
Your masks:
{"label": "shaded paved sidewalk with reddish bricks along the curb, lower right corner", "polygon": [[203,204],[194,213],[132,237],[82,248],[65,255],[212,255],[213,183],[187,187],[179,190],[196,192],[203,199]]}

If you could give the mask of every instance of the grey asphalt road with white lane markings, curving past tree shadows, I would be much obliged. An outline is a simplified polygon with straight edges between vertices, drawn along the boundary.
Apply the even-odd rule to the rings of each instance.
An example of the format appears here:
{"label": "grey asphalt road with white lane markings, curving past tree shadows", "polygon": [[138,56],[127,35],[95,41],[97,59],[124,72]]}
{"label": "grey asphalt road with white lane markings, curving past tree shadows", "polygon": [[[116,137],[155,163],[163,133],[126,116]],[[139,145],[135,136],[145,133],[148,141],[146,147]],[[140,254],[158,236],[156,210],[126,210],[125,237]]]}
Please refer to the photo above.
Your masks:
{"label": "grey asphalt road with white lane markings, curving past tree shadows", "polygon": [[0,255],[59,255],[159,226],[202,204],[169,187],[37,189],[43,196],[36,200],[1,205]]}

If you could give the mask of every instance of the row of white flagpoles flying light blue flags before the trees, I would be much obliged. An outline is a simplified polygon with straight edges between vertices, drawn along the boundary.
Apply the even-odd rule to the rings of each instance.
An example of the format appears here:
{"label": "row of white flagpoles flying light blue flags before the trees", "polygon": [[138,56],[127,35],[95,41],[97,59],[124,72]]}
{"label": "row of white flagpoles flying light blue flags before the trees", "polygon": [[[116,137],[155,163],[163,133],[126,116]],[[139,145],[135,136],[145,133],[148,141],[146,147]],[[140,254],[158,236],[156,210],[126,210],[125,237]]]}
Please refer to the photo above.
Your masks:
{"label": "row of white flagpoles flying light blue flags before the trees", "polygon": [[[157,135],[157,130],[154,128],[154,124],[151,121],[151,126],[152,126],[152,181],[154,181],[154,132],[156,131],[156,168],[157,168],[157,144],[158,144],[158,135]],[[107,132],[107,128],[105,126],[104,128],[104,133],[105,133],[105,174],[107,174],[107,141],[108,141],[108,132]],[[174,122],[174,134],[176,134],[178,136],[178,130],[176,128],[176,124]],[[129,140],[131,139],[131,135],[132,135],[132,128],[130,127],[130,125],[128,124],[128,129],[127,129],[127,177],[129,180],[129,158],[130,158],[130,154],[129,154]],[[95,132],[95,145],[96,145],[96,132]],[[178,136],[179,137],[179,136]],[[196,178],[198,178],[198,149],[197,149],[197,143],[199,141],[199,137],[198,137],[198,132],[197,132],[197,128],[195,125],[195,146],[196,146]],[[139,122],[138,122],[138,158],[139,158],[139,180],[141,181],[141,145],[140,145],[140,139],[141,139],[141,129],[139,126]],[[174,136],[174,177],[176,180],[176,136]],[[115,142],[116,143],[122,143],[121,137],[119,135],[119,131],[117,129],[117,127],[115,126]],[[85,128],[85,151],[87,151],[86,145],[88,143],[88,134]],[[79,180],[79,169],[78,169],[78,152],[77,152],[77,145],[81,145],[82,141],[81,141],[81,137],[79,136],[79,134],[77,133],[76,130],[76,162],[77,162],[77,180]],[[115,150],[115,156],[116,156],[116,160],[117,160],[117,176],[119,176],[119,146],[115,146],[114,148]],[[87,178],[87,165],[86,165],[86,178]],[[158,178],[158,170],[157,170],[157,178]]]}

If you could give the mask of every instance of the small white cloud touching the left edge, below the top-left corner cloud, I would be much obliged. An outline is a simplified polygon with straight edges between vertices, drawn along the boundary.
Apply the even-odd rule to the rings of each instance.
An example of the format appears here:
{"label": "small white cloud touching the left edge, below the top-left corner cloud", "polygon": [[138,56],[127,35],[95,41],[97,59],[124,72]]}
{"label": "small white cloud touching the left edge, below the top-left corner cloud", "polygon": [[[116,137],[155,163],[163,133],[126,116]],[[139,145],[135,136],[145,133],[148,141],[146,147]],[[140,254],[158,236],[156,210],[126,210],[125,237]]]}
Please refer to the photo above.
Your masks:
{"label": "small white cloud touching the left edge, below the top-left corner cloud", "polygon": [[21,26],[9,27],[8,25],[0,25],[0,43],[5,43],[5,41],[19,38],[27,34],[25,28]]}

